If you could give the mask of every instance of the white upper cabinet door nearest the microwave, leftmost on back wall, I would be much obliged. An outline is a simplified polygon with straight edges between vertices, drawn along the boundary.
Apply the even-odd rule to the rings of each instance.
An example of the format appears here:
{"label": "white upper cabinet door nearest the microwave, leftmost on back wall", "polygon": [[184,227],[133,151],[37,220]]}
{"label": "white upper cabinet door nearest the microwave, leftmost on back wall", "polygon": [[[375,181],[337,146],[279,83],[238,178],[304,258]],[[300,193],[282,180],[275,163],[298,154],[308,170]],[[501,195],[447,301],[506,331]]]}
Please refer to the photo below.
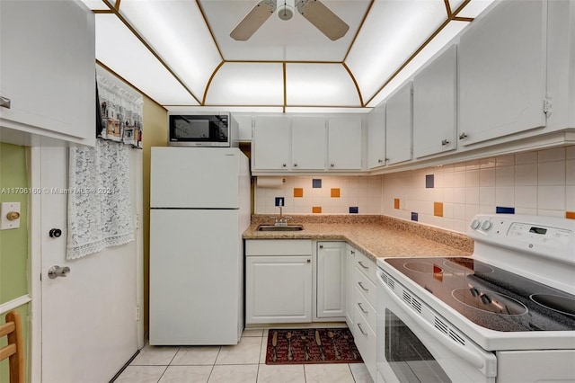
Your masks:
{"label": "white upper cabinet door nearest the microwave, leftmost on back wall", "polygon": [[253,167],[255,169],[288,169],[288,117],[256,117],[253,136]]}

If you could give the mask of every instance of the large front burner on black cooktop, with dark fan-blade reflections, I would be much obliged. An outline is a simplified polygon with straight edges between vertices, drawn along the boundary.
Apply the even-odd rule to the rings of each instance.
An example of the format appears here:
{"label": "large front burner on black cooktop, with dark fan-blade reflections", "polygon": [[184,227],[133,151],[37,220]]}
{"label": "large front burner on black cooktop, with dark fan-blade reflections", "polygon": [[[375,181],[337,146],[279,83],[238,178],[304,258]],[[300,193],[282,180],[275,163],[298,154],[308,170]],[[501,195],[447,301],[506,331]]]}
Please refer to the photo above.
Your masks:
{"label": "large front burner on black cooktop, with dark fan-blade reflections", "polygon": [[503,316],[520,316],[527,313],[527,307],[518,300],[490,290],[454,289],[451,295],[465,306]]}

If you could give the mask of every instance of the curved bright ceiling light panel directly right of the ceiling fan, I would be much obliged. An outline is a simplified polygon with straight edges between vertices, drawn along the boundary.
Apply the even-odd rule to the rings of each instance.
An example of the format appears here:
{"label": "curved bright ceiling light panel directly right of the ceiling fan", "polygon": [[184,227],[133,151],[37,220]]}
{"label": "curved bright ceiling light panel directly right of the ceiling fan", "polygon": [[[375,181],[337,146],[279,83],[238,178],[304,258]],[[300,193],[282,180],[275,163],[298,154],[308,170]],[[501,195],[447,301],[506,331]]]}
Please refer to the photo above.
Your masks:
{"label": "curved bright ceiling light panel directly right of the ceiling fan", "polygon": [[447,20],[443,0],[382,0],[371,8],[346,59],[365,100]]}

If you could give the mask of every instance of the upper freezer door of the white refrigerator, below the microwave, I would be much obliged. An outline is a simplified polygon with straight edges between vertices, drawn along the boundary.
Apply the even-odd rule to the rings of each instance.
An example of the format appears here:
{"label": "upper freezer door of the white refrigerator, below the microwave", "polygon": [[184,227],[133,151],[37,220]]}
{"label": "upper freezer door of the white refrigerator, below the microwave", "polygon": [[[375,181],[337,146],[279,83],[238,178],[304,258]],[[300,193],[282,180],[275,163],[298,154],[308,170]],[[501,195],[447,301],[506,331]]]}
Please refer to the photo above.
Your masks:
{"label": "upper freezer door of the white refrigerator, below the microwave", "polygon": [[150,207],[238,209],[238,148],[152,147]]}

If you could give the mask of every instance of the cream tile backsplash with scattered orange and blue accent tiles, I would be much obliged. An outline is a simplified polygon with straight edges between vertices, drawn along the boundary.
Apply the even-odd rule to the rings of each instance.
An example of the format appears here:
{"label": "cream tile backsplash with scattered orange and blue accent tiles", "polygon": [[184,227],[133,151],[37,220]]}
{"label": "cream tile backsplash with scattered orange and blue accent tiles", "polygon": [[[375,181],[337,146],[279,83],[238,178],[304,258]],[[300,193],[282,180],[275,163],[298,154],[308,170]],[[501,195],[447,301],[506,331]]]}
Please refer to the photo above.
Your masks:
{"label": "cream tile backsplash with scattered orange and blue accent tiles", "polygon": [[286,176],[255,213],[384,214],[464,233],[477,213],[575,217],[575,146],[377,176]]}

